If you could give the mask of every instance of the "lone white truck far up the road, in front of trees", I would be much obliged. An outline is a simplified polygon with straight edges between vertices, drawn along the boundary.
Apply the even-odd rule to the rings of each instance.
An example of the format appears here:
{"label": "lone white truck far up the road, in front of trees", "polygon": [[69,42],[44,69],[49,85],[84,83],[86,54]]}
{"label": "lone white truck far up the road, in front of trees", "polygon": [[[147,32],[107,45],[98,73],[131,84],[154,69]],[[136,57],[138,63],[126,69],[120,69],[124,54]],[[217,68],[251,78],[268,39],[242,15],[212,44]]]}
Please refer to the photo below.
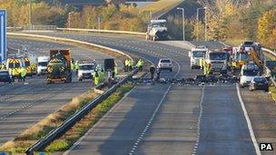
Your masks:
{"label": "lone white truck far up the road, in front of trees", "polygon": [[147,28],[146,40],[166,40],[168,37],[166,22],[165,19],[151,20]]}

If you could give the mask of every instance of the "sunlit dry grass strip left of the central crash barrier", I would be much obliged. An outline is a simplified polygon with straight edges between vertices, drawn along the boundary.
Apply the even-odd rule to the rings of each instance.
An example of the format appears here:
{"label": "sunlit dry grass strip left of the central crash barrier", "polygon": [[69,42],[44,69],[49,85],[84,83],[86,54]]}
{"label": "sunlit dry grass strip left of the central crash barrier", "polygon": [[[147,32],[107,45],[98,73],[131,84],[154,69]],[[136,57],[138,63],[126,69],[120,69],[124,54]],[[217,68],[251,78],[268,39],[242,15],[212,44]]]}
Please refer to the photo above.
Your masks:
{"label": "sunlit dry grass strip left of the central crash barrier", "polygon": [[62,106],[58,111],[49,114],[43,120],[38,121],[29,129],[21,132],[14,140],[5,142],[0,147],[0,150],[12,152],[25,152],[36,140],[44,138],[55,127],[59,126],[69,116],[74,114],[75,111],[80,110],[84,105],[98,96],[93,90],[88,90],[83,94],[74,97],[72,102]]}

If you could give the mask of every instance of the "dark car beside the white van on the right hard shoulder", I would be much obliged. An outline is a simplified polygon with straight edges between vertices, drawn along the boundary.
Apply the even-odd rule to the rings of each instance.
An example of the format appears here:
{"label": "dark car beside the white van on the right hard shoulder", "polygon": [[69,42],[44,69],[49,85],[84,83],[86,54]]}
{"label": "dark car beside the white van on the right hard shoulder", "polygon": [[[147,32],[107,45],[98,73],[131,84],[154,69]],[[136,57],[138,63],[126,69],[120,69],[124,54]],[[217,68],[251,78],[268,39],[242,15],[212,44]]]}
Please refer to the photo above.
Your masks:
{"label": "dark car beside the white van on the right hard shoulder", "polygon": [[249,91],[254,90],[264,90],[265,92],[269,91],[269,82],[266,80],[265,77],[262,76],[255,76],[251,80]]}

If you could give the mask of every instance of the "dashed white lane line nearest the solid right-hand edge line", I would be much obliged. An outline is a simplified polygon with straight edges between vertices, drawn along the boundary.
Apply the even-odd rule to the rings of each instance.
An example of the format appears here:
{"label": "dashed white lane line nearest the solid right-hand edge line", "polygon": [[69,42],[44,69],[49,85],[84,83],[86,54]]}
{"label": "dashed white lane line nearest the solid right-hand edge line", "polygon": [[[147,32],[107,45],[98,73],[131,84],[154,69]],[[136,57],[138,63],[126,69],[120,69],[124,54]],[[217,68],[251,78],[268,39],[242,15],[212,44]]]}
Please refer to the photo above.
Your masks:
{"label": "dashed white lane line nearest the solid right-hand edge line", "polygon": [[201,102],[199,105],[200,116],[198,117],[198,121],[197,121],[197,136],[196,136],[196,142],[195,142],[193,150],[192,150],[192,155],[196,154],[198,144],[200,142],[200,137],[201,137],[201,121],[202,121],[202,111],[203,111],[202,103],[204,101],[204,92],[205,92],[205,85],[202,87],[202,97],[201,97]]}

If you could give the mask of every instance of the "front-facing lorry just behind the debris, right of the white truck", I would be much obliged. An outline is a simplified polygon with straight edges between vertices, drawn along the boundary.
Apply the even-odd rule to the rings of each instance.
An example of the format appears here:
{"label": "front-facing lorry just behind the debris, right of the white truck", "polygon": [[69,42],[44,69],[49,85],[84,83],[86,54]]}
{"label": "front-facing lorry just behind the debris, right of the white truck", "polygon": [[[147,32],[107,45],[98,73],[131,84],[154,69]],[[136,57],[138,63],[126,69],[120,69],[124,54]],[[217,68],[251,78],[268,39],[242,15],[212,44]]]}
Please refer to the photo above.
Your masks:
{"label": "front-facing lorry just behind the debris, right of the white truck", "polygon": [[203,71],[209,74],[227,74],[228,53],[222,50],[208,51],[203,60]]}

